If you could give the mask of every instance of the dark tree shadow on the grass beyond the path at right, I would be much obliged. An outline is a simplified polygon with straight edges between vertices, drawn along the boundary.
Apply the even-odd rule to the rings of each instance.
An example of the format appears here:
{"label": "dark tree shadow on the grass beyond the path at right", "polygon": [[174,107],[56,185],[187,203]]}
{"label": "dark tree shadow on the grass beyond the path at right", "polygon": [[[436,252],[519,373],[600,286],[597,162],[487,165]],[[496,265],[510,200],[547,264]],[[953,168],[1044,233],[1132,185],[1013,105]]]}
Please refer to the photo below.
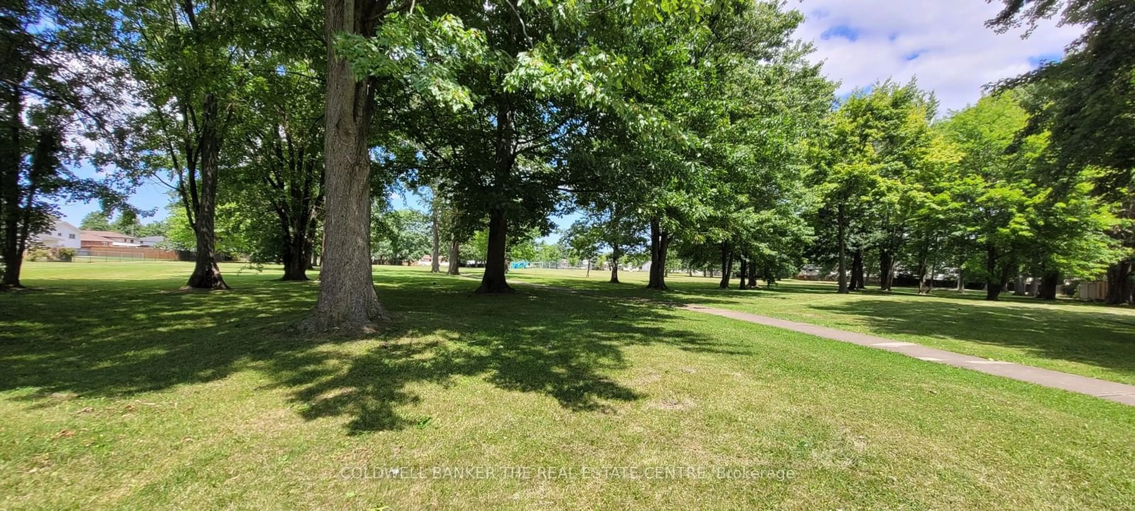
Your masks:
{"label": "dark tree shadow on the grass beyond the path at right", "polygon": [[1099,308],[1100,312],[1093,313],[1091,308],[1068,311],[1017,301],[975,307],[966,301],[861,299],[810,307],[860,318],[882,335],[911,334],[1001,345],[1045,359],[1135,374],[1135,318]]}

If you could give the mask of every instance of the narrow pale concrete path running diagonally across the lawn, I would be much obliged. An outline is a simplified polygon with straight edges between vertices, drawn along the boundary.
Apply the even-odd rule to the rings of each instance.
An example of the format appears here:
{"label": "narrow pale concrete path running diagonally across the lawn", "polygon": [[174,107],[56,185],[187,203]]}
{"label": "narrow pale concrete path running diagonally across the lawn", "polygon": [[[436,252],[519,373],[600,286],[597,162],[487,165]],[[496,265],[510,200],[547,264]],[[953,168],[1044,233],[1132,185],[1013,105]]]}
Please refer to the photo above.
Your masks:
{"label": "narrow pale concrete path running diagonally across the lawn", "polygon": [[1096,397],[1135,407],[1135,385],[1104,382],[1102,379],[1088,378],[1086,376],[1069,375],[1067,372],[1022,366],[1019,363],[987,360],[981,357],[972,357],[955,353],[952,351],[926,347],[915,343],[906,343],[876,337],[874,335],[838,330],[835,328],[809,325],[806,322],[770,318],[767,316],[750,315],[748,312],[714,309],[712,307],[704,305],[682,305],[681,308],[695,312],[704,312],[725,318],[739,319],[741,321],[785,328],[789,330],[815,335],[817,337],[858,344],[860,346],[893,351],[896,353],[902,353],[927,362],[945,363],[948,366],[973,369],[975,371],[989,372],[991,375],[1019,379],[1022,382],[1029,382],[1045,387],[1062,388],[1065,391],[1094,395]]}

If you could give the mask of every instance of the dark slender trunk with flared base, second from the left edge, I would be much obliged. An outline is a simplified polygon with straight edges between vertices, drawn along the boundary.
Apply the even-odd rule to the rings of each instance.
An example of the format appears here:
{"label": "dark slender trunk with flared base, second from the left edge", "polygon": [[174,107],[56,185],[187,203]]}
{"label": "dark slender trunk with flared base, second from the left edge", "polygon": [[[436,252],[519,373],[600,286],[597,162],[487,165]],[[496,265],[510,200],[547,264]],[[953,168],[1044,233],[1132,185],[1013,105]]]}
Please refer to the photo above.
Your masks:
{"label": "dark slender trunk with flared base, second from the left edge", "polygon": [[195,290],[227,290],[228,285],[217,267],[217,240],[213,224],[217,219],[217,171],[220,165],[220,134],[217,118],[217,97],[207,94],[201,114],[201,191],[194,226],[197,235],[196,263],[186,287]]}

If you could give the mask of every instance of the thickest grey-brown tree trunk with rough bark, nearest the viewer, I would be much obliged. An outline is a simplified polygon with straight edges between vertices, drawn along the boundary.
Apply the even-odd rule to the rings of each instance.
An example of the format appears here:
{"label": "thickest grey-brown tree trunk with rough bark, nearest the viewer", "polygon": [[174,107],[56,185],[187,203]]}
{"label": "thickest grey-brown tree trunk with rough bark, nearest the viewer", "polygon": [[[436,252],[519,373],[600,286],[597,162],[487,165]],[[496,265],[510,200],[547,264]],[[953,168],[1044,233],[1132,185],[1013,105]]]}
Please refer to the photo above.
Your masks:
{"label": "thickest grey-brown tree trunk with rough bark, nearest the viewer", "polygon": [[[379,16],[369,0],[327,0],[326,36],[372,36]],[[370,156],[368,134],[373,111],[369,79],[355,77],[350,64],[327,45],[327,123],[323,158],[323,256],[319,300],[308,318],[311,329],[369,328],[386,313],[370,267]]]}

